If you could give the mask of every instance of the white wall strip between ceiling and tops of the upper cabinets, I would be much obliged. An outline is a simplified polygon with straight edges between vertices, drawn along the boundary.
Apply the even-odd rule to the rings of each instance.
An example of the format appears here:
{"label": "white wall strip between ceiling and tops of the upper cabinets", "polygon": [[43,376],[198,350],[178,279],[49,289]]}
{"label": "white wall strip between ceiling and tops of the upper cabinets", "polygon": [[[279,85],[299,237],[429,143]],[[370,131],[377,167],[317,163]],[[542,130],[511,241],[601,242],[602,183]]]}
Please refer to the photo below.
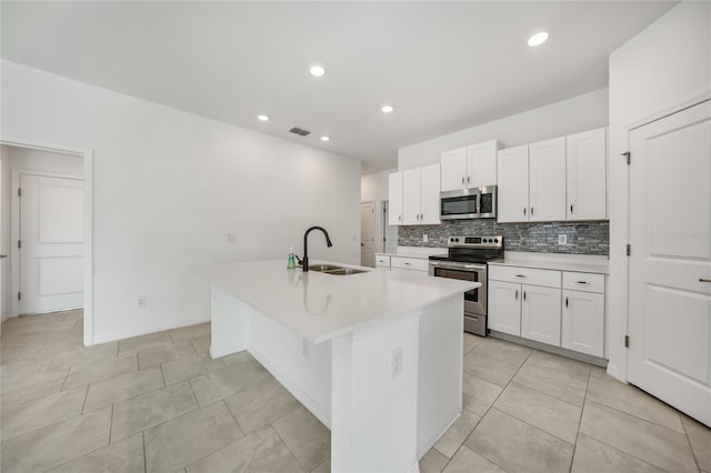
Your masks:
{"label": "white wall strip between ceiling and tops of the upper cabinets", "polygon": [[608,89],[551,103],[398,150],[398,169],[440,162],[442,151],[498,139],[504,148],[608,125]]}

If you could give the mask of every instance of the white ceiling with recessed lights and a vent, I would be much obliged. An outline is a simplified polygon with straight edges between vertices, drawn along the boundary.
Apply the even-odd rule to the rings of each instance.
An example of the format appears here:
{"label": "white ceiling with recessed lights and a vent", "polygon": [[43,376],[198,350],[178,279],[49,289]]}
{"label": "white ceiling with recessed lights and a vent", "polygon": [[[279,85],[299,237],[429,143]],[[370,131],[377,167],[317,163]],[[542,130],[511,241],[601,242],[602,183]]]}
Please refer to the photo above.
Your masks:
{"label": "white ceiling with recessed lights and a vent", "polygon": [[[1,54],[365,173],[397,167],[398,148],[607,87],[608,54],[674,3],[2,1]],[[549,41],[529,48],[539,30]]]}

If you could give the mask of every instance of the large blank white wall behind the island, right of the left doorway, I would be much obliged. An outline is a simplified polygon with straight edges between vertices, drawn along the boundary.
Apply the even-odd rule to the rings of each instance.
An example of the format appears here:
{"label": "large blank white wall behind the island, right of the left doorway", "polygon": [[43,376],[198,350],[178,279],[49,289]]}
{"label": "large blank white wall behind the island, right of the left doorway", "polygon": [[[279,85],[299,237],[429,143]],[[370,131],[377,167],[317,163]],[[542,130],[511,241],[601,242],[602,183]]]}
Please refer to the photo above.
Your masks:
{"label": "large blank white wall behind the island, right of the left doorway", "polygon": [[286,262],[311,224],[312,258],[360,260],[360,161],[9,61],[2,99],[4,137],[93,150],[97,343],[208,320],[190,266]]}

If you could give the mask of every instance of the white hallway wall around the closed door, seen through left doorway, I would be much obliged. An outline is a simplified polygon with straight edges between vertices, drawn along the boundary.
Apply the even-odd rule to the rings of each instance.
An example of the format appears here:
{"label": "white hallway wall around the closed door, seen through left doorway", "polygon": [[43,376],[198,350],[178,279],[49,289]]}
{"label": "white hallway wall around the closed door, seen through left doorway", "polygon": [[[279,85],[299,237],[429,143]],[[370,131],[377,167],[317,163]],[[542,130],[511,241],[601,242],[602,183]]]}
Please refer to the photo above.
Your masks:
{"label": "white hallway wall around the closed door, seen through left doorway", "polygon": [[12,198],[11,181],[12,170],[23,169],[32,171],[57,172],[71,175],[83,175],[82,159],[70,154],[59,154],[48,151],[31,150],[18,147],[0,147],[0,161],[2,165],[2,181],[0,192],[2,195],[2,208],[0,214],[0,253],[8,258],[2,262],[2,320],[10,314],[10,266],[12,264],[12,252],[10,242],[10,203]]}

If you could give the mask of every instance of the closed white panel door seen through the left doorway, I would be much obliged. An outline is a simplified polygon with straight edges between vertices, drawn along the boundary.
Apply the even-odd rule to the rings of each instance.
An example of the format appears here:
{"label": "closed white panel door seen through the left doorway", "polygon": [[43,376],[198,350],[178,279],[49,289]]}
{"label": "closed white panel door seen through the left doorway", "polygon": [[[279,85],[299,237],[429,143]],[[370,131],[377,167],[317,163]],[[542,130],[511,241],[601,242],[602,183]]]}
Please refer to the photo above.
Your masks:
{"label": "closed white panel door seen through the left doorway", "polygon": [[83,181],[21,174],[20,313],[83,305]]}

